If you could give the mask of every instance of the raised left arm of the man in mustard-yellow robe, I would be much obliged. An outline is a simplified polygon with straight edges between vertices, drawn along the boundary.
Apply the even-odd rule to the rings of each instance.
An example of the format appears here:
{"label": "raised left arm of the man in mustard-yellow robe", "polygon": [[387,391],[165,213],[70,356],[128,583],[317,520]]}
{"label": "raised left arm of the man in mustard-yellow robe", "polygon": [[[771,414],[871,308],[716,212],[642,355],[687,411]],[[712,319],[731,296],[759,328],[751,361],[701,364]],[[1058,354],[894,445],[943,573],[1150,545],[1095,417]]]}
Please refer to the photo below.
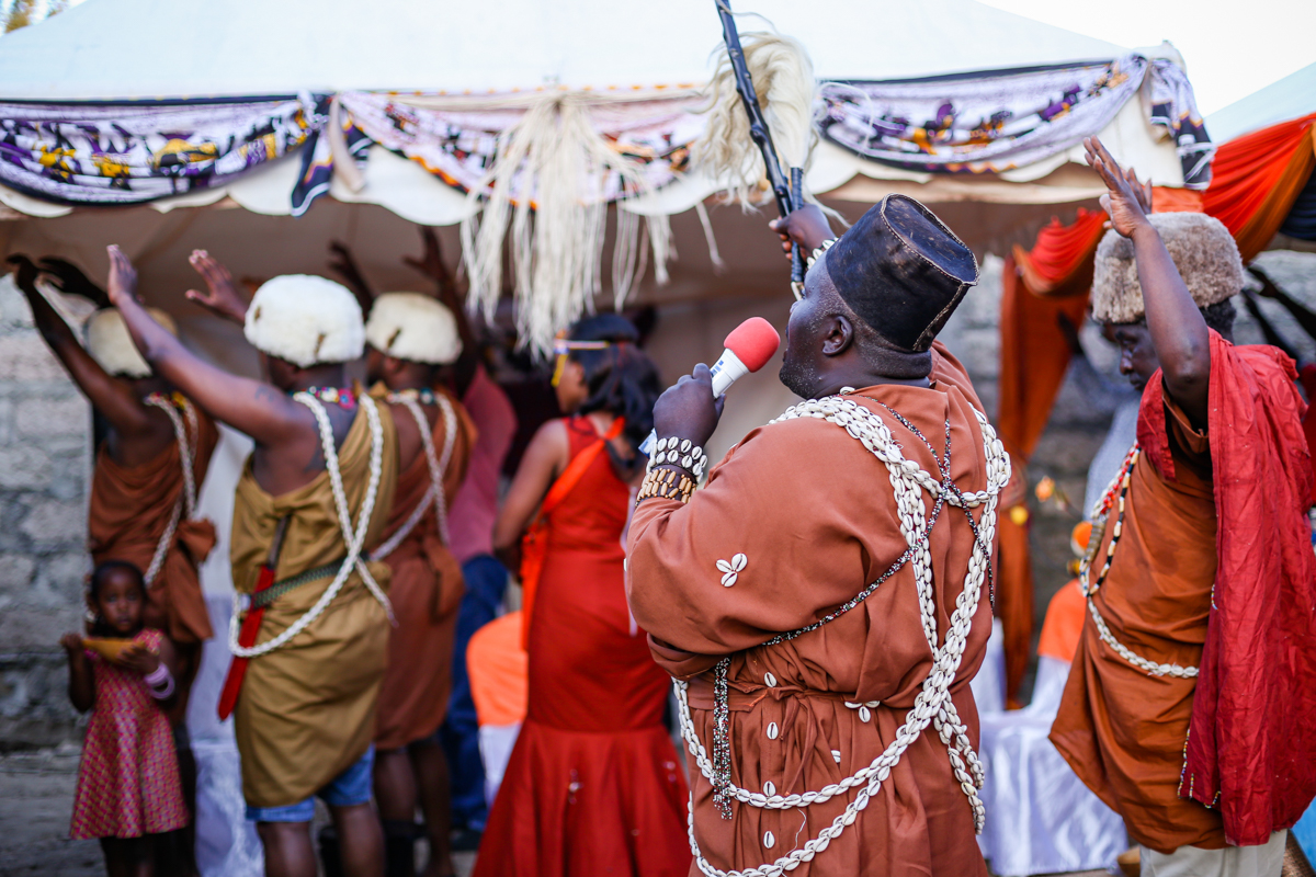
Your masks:
{"label": "raised left arm of the man in mustard-yellow robe", "polygon": [[117,246],[111,246],[109,300],[124,314],[133,343],[158,375],[257,444],[280,443],[305,427],[305,408],[270,384],[230,375],[192,354],[146,313],[136,291],[137,271]]}

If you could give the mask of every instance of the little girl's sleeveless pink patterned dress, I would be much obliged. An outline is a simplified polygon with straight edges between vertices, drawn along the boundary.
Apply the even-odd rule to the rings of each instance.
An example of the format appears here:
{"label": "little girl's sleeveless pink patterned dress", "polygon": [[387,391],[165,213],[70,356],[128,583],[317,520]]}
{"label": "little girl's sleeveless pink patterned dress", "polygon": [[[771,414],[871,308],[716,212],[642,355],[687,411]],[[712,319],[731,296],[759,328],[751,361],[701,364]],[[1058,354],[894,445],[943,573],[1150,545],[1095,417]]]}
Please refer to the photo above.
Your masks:
{"label": "little girl's sleeveless pink patterned dress", "polygon": [[[133,642],[158,650],[163,634],[143,630]],[[139,673],[88,651],[96,680],[68,835],[141,838],[188,822],[168,717]]]}

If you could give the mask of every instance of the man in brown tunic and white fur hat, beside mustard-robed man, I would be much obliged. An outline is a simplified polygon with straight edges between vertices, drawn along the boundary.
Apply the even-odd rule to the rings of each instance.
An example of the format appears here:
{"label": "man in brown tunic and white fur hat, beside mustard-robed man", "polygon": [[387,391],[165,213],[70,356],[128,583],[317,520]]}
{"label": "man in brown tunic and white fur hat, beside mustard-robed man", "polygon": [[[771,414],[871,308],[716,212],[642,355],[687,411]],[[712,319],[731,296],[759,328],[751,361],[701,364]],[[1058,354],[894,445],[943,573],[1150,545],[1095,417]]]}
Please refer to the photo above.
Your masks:
{"label": "man in brown tunic and white fur hat, beside mustard-robed man", "polygon": [[426,874],[451,873],[447,757],[437,739],[453,689],[453,642],[462,568],[447,511],[466,476],[475,426],[437,372],[462,352],[453,313],[432,296],[388,292],[366,321],[371,394],[397,425],[399,476],[384,542],[371,551],[392,569],[397,617],[375,730],[375,799],[390,877],[415,874],[416,807],[429,838]]}

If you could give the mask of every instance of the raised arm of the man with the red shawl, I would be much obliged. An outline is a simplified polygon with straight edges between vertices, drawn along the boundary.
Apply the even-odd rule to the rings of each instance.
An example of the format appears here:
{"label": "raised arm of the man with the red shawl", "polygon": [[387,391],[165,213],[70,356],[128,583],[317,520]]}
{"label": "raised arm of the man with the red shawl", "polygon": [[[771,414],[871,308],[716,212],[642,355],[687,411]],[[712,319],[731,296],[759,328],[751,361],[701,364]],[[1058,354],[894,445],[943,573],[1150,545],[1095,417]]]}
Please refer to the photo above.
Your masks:
{"label": "raised arm of the man with the red shawl", "polygon": [[1194,423],[1204,426],[1211,383],[1211,330],[1207,321],[1192,301],[1161,234],[1148,221],[1142,204],[1145,193],[1136,191],[1134,183],[1120,170],[1100,139],[1090,137],[1083,146],[1087,163],[1108,189],[1101,196],[1101,206],[1111,216],[1111,227],[1133,241],[1148,331],[1161,360],[1165,389]]}

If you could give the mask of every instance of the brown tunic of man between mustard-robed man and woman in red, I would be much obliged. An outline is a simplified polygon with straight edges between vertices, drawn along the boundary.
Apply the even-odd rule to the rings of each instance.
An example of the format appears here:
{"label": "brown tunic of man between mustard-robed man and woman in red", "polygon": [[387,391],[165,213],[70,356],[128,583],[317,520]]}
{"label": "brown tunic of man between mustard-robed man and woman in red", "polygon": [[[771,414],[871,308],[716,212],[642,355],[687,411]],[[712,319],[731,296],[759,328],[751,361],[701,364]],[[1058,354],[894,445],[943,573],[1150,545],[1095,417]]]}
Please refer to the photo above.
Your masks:
{"label": "brown tunic of man between mustard-robed man and woman in red", "polygon": [[[371,392],[376,398],[387,389]],[[457,439],[443,472],[443,496],[453,497],[466,477],[466,463],[475,444],[475,425],[461,402],[447,397],[457,414]],[[395,417],[411,418],[405,408]],[[434,454],[442,459],[447,440],[443,418],[434,425]],[[430,486],[429,462],[420,454],[397,477],[393,510],[384,527],[387,542],[412,515]],[[466,586],[462,567],[438,535],[437,515],[430,508],[401,543],[384,559],[392,569],[388,598],[397,626],[388,640],[388,672],[379,689],[375,746],[396,749],[429,736],[443,723],[453,688],[453,640],[457,609]]]}

